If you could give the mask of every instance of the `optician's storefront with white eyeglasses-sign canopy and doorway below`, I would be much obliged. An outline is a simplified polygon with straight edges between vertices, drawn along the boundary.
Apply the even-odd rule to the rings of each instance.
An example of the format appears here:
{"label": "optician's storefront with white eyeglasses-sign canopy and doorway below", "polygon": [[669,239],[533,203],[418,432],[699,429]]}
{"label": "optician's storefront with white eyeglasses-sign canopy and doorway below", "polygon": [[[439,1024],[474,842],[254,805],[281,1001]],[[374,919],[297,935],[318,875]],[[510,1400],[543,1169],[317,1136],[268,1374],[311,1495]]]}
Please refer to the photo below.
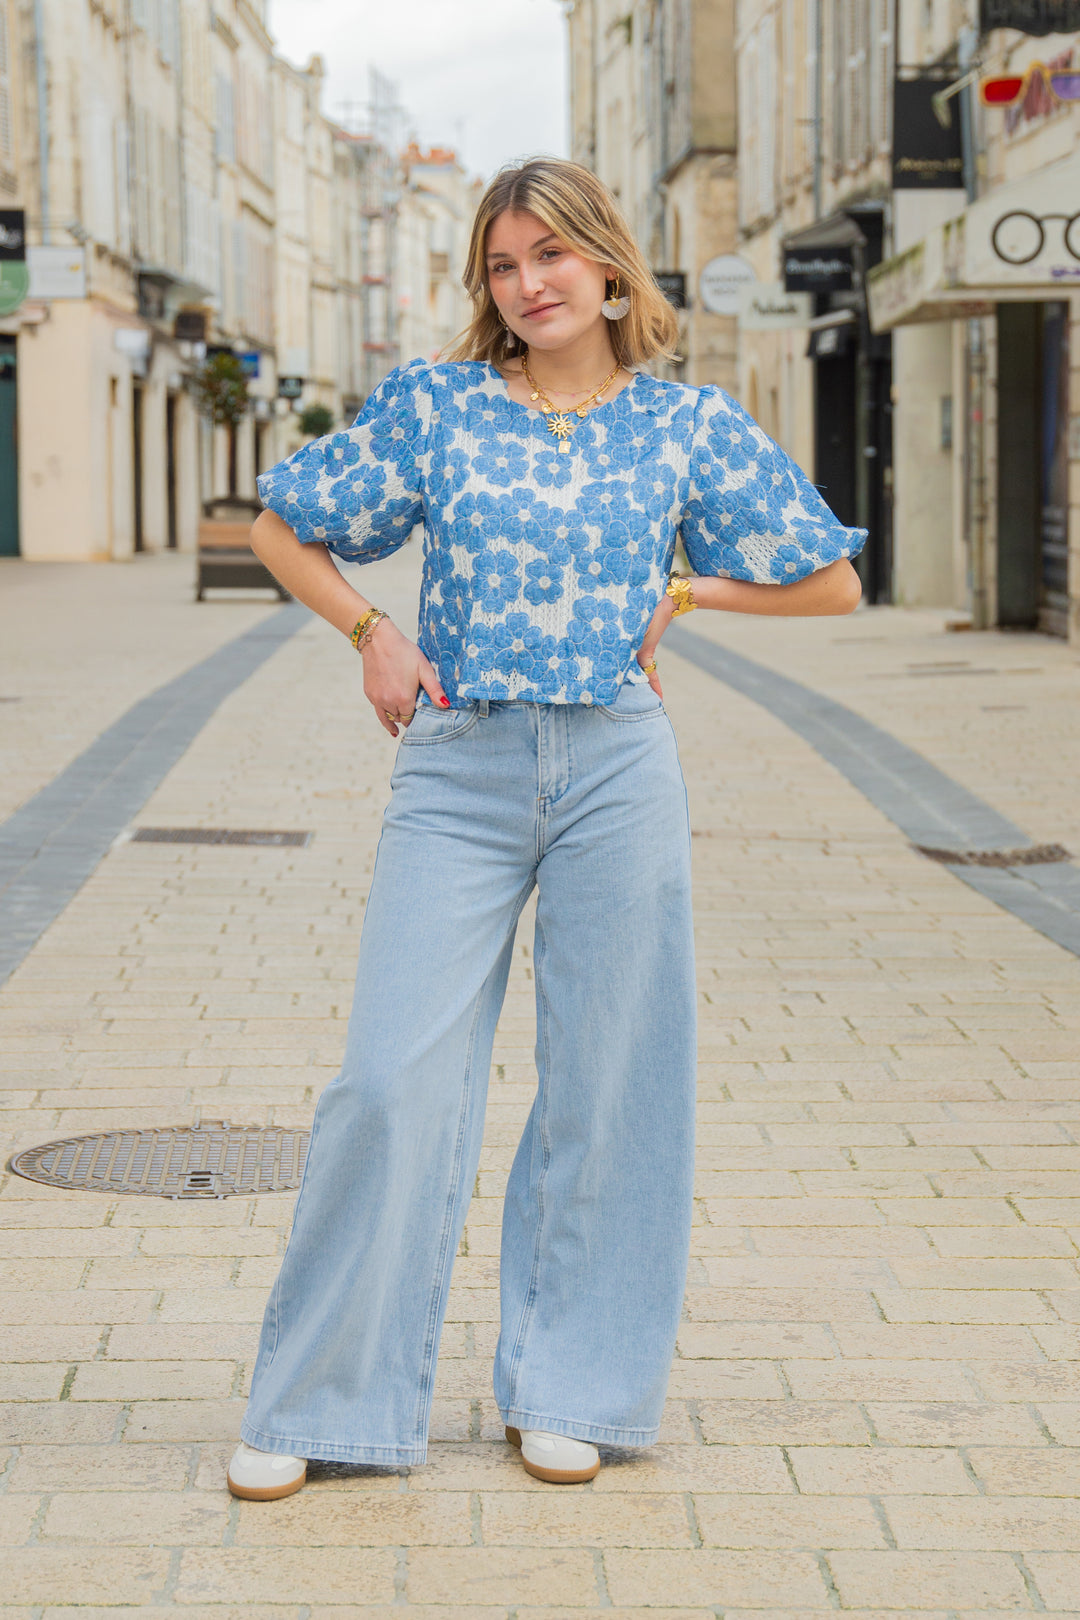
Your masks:
{"label": "optician's storefront with white eyeglasses-sign canopy and doorway below", "polygon": [[[976,624],[1080,638],[1070,373],[1080,369],[1080,152],[997,186],[866,280],[874,332],[963,321],[965,514]],[[1072,541],[1072,557],[1070,557]]]}

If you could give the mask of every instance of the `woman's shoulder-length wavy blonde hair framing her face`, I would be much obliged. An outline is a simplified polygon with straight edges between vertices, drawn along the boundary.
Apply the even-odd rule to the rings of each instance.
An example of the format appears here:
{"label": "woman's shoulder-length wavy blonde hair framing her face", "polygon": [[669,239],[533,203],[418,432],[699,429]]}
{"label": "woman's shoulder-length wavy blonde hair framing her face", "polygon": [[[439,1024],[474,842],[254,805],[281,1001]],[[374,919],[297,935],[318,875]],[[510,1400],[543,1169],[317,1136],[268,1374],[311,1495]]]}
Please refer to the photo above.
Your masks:
{"label": "woman's shoulder-length wavy blonde hair framing her face", "polygon": [[609,334],[615,360],[622,366],[640,366],[657,356],[675,358],[675,311],[656,285],[607,186],[580,164],[560,157],[531,157],[525,164],[502,168],[479,201],[461,277],[473,300],[473,319],[444,353],[444,360],[486,360],[497,364],[525,348],[502,324],[487,282],[487,232],[507,211],[536,214],[583,258],[614,264],[619,272],[619,296],[630,298],[628,313],[610,322]]}

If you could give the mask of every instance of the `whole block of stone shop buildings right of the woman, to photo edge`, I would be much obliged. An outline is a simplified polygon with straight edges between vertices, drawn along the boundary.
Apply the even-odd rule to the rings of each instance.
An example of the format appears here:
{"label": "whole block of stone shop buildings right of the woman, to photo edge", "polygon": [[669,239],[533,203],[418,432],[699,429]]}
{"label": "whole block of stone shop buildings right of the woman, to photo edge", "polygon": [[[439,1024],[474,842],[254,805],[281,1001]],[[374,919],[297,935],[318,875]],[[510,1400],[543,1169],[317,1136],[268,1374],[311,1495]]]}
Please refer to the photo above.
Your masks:
{"label": "whole block of stone shop buildings right of the woman, to photo edge", "polygon": [[[1080,105],[1023,78],[1078,66],[1077,44],[980,34],[952,0],[738,0],[740,232],[761,284],[738,387],[870,528],[871,601],[1080,637],[1080,241],[1043,220],[1041,246],[999,238],[1015,262],[993,246],[1009,214],[1080,198]],[[1017,102],[981,105],[1002,70]]]}

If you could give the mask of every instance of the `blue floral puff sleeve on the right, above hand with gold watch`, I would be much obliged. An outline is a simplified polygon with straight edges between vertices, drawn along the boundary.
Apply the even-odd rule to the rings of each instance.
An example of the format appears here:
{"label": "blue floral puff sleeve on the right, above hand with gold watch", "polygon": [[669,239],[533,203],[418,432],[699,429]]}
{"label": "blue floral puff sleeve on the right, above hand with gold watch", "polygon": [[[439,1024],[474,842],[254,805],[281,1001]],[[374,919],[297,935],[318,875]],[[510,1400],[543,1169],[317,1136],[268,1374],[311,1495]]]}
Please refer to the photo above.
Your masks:
{"label": "blue floral puff sleeve on the right, above hand with gold watch", "polygon": [[845,528],[806,475],[729,394],[701,389],[682,539],[696,573],[792,585],[857,556],[865,528]]}

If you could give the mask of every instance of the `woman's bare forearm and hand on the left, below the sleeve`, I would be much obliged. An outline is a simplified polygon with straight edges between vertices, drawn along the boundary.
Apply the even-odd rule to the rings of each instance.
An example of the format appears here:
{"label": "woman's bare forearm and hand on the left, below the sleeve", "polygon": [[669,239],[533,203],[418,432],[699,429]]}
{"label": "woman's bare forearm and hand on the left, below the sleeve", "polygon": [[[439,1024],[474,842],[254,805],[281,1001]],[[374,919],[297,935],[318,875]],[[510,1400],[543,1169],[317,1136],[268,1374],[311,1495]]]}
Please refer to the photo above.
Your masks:
{"label": "woman's bare forearm and hand on the left, below the sleeve", "polygon": [[[251,549],[285,590],[332,624],[342,635],[372,606],[366,596],[342,578],[325,546],[300,541],[277,512],[259,512],[251,525]],[[419,687],[432,701],[450,708],[439,676],[415,642],[390,619],[381,619],[359,654],[364,661],[364,695],[379,716],[379,724],[397,737],[389,714],[411,714]]]}

